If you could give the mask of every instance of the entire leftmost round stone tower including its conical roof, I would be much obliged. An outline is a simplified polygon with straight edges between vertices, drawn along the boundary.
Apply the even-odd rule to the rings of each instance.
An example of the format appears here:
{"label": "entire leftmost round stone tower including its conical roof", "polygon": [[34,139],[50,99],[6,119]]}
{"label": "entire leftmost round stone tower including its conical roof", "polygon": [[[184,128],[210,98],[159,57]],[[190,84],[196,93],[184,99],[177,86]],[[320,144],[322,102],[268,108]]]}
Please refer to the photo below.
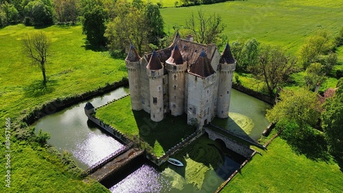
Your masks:
{"label": "entire leftmost round stone tower including its conical roof", "polygon": [[126,68],[128,68],[132,110],[142,110],[143,108],[141,102],[140,60],[141,57],[139,57],[136,49],[134,49],[134,46],[131,45],[128,51],[128,56],[125,59],[125,64]]}

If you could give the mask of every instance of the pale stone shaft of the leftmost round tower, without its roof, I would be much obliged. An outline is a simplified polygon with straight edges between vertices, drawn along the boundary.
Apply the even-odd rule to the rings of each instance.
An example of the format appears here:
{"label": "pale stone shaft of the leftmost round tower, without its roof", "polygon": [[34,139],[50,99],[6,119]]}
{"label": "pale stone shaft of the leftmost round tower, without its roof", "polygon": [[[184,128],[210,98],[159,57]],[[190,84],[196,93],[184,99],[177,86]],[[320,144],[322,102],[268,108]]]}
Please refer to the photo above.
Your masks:
{"label": "pale stone shaft of the leftmost round tower, without its roof", "polygon": [[130,84],[132,110],[142,110],[141,98],[141,68],[139,62],[129,62],[126,60],[126,68],[128,68],[128,79]]}

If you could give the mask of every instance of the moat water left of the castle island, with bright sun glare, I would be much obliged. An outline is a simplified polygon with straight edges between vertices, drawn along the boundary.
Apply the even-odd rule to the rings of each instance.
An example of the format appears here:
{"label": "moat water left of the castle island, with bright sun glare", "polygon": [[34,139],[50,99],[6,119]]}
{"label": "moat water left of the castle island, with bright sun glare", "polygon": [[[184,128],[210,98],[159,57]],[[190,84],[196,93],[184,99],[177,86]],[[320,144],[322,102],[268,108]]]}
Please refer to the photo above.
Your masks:
{"label": "moat water left of the castle island, with bright sun glare", "polygon": [[[99,107],[127,93],[128,89],[121,87],[90,101],[95,107]],[[40,118],[34,123],[37,132],[42,129],[51,133],[49,144],[60,151],[67,150],[73,153],[75,162],[82,169],[88,168],[123,146],[96,125],[87,121],[84,105],[86,101]]]}

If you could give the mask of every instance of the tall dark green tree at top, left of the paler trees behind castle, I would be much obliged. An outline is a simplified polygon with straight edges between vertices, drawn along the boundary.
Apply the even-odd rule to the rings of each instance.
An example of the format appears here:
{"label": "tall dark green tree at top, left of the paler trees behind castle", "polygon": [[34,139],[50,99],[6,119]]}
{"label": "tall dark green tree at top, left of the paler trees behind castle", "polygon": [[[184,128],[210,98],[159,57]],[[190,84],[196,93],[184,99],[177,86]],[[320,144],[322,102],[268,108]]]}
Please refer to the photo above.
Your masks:
{"label": "tall dark green tree at top, left of the paler trees behind castle", "polygon": [[104,3],[100,0],[82,0],[82,33],[86,34],[86,40],[93,45],[105,45],[105,21],[108,12]]}

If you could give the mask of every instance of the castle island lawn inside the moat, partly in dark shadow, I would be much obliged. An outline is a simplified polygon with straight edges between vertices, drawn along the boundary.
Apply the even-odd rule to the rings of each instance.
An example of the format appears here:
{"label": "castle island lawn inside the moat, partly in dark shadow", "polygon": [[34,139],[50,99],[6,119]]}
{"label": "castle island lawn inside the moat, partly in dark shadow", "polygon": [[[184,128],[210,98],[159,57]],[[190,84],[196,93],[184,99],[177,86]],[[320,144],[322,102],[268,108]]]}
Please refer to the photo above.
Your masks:
{"label": "castle island lawn inside the moat, partly in dark shadow", "polygon": [[129,138],[139,136],[152,147],[157,157],[195,131],[187,125],[186,115],[167,116],[161,122],[154,123],[147,112],[131,110],[130,97],[99,108],[96,116]]}

